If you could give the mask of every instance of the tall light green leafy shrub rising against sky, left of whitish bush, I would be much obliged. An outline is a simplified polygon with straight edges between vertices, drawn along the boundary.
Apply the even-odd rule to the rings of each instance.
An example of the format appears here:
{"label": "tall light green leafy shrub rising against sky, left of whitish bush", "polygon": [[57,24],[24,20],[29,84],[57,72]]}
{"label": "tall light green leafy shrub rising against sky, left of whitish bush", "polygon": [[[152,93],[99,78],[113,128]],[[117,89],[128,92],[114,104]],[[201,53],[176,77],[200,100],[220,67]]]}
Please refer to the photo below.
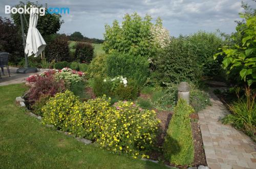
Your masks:
{"label": "tall light green leafy shrub rising against sky, left of whitish bush", "polygon": [[151,32],[151,16],[146,15],[142,19],[137,13],[133,13],[126,14],[123,19],[121,26],[117,20],[113,21],[112,27],[105,25],[103,50],[106,54],[117,51],[146,59],[154,57],[157,47]]}

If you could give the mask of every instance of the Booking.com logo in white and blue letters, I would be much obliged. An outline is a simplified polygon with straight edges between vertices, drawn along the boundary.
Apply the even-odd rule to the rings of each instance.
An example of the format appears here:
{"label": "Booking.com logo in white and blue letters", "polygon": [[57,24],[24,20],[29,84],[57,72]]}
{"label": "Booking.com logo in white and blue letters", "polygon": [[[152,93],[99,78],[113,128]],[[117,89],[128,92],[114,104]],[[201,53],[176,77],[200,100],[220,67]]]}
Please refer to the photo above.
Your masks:
{"label": "Booking.com logo in white and blue letters", "polygon": [[[5,6],[5,13],[6,14],[15,14],[15,13],[19,13],[19,14],[30,14],[30,11],[33,9],[32,8],[33,6],[30,5],[30,7],[27,8],[27,6],[25,5],[24,8],[23,7],[19,7],[19,8],[11,8],[10,5],[6,5]],[[69,8],[58,8],[58,7],[50,7],[46,10],[46,8],[44,7],[41,7],[41,8],[37,8],[37,7],[34,7],[40,16],[44,16],[46,13],[49,13],[49,14],[66,14],[68,13],[69,14]]]}

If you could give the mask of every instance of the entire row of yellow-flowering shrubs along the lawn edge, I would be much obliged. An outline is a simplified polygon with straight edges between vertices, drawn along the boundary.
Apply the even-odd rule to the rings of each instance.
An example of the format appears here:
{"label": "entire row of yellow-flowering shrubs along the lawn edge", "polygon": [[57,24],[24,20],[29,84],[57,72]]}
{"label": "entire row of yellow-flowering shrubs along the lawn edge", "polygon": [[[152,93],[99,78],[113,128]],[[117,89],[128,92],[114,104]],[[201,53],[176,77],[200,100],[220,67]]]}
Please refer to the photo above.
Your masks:
{"label": "entire row of yellow-flowering shrubs along the lawn edge", "polygon": [[102,98],[80,103],[69,90],[57,93],[42,108],[43,122],[76,136],[95,140],[112,152],[125,152],[134,158],[147,157],[154,147],[160,120],[153,110],[142,110],[133,102]]}

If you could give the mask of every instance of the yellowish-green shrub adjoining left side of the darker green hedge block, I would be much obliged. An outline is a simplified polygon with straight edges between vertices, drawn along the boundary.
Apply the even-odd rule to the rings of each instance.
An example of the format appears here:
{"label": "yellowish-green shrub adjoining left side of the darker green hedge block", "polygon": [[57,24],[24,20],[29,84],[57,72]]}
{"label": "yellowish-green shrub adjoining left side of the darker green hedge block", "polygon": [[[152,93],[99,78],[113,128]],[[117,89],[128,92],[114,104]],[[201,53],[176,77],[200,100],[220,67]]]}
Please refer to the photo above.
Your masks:
{"label": "yellowish-green shrub adjoining left side of the darker green hedge block", "polygon": [[98,55],[93,58],[88,68],[90,77],[106,77],[106,55]]}

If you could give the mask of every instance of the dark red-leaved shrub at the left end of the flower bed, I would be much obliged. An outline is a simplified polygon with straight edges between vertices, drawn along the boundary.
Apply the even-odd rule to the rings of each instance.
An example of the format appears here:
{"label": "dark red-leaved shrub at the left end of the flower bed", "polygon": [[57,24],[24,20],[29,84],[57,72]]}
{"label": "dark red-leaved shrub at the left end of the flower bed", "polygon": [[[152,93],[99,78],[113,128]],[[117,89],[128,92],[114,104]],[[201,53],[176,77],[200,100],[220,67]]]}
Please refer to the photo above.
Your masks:
{"label": "dark red-leaved shrub at the left end of the flower bed", "polygon": [[54,96],[56,93],[65,90],[65,83],[63,81],[56,81],[54,76],[41,77],[37,79],[34,86],[28,92],[28,100],[30,104],[37,101],[41,95]]}

